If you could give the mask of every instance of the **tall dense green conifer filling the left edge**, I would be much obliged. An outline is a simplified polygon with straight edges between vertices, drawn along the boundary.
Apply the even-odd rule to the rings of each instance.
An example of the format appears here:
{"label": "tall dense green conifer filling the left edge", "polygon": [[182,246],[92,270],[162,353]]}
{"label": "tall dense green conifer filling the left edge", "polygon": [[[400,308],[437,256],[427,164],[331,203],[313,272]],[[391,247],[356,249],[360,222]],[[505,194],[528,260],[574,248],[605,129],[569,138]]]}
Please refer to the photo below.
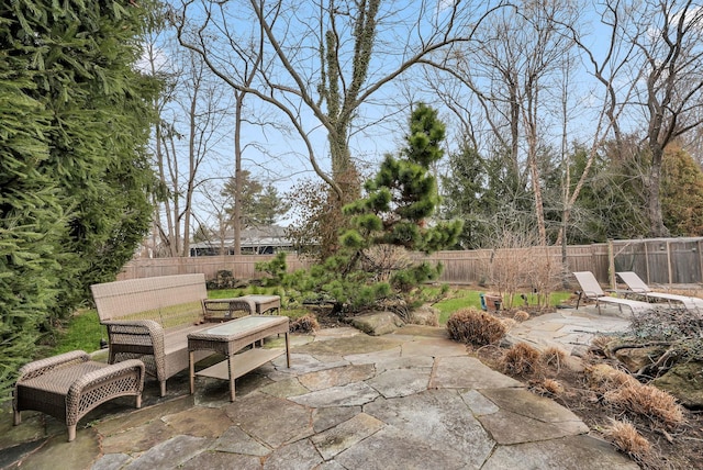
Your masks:
{"label": "tall dense green conifer filling the left edge", "polygon": [[150,1],[0,3],[0,401],[148,228]]}

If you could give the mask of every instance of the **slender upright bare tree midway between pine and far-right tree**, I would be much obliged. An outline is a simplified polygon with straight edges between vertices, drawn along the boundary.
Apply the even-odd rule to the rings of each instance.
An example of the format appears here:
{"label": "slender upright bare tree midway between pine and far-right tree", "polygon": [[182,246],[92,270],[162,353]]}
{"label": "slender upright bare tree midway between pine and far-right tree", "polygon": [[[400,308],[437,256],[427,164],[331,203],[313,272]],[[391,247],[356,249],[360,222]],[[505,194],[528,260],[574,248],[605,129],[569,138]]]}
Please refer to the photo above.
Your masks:
{"label": "slender upright bare tree midway between pine and far-right tree", "polygon": [[[454,48],[440,63],[427,63],[462,85],[444,90],[443,97],[451,110],[466,116],[461,103],[467,90],[478,103],[465,128],[475,132],[487,123],[492,142],[509,155],[509,168],[521,187],[532,188],[535,221],[539,243],[547,244],[540,176],[540,148],[548,136],[548,116],[556,110],[550,103],[558,92],[562,70],[572,41],[563,34],[565,24],[572,24],[576,12],[560,2],[539,0],[520,8],[503,9],[486,21],[475,43]],[[429,80],[446,87],[446,80],[435,76]],[[476,136],[470,137],[479,142]]]}

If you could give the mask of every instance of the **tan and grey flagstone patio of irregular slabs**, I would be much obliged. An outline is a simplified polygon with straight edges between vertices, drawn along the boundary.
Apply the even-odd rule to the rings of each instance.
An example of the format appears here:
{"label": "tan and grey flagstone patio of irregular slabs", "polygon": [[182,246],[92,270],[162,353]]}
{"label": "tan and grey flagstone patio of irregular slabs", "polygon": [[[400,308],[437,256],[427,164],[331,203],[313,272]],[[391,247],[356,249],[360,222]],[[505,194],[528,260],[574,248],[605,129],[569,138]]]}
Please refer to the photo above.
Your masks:
{"label": "tan and grey flagstone patio of irregular slabs", "polygon": [[[624,329],[607,309],[558,311],[517,323],[512,340],[567,351],[599,332]],[[371,337],[354,328],[293,335],[284,358],[237,379],[187,371],[145,406],[111,403],[79,424],[74,443],[57,419],[25,413],[0,425],[8,469],[636,469],[589,435],[573,413],[468,355],[444,328],[405,326]],[[577,367],[577,366],[574,366]],[[11,414],[4,416],[11,419]],[[91,423],[92,426],[86,426]],[[60,462],[60,465],[58,465]]]}

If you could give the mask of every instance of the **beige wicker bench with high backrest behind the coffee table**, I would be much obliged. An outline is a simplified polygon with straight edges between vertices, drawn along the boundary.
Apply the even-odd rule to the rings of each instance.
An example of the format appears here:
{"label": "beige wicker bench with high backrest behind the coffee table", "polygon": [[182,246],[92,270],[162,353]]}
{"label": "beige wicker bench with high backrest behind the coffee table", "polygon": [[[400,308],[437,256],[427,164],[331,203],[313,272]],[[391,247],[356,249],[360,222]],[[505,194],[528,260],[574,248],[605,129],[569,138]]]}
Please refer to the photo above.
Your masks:
{"label": "beige wicker bench with high backrest behind the coffee table", "polygon": [[[100,323],[108,327],[109,362],[143,360],[147,373],[159,381],[161,396],[166,395],[166,380],[188,369],[188,334],[202,329],[205,322],[257,311],[257,296],[245,296],[227,300],[224,316],[205,312],[208,289],[202,273],[105,282],[90,289]],[[212,354],[198,351],[196,361]]]}

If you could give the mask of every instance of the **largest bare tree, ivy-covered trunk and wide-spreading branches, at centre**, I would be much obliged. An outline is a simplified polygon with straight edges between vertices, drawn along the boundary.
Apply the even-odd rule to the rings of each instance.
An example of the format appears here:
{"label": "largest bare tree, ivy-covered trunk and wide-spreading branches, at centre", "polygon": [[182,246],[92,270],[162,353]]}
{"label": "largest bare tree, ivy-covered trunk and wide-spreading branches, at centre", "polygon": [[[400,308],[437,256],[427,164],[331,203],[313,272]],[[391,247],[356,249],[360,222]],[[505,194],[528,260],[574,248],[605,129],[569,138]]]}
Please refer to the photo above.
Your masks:
{"label": "largest bare tree, ivy-covered trunk and wide-spreading branches, at centre", "polygon": [[[361,119],[362,105],[423,57],[470,41],[498,8],[500,2],[189,0],[175,16],[183,45],[201,54],[231,87],[289,120],[314,171],[345,201],[358,191],[349,138],[366,122],[377,121]],[[264,60],[258,79],[245,83],[237,65],[249,60],[241,48],[253,20],[261,32],[257,40],[265,41]],[[311,139],[317,127],[326,132],[331,170],[320,164]]]}

